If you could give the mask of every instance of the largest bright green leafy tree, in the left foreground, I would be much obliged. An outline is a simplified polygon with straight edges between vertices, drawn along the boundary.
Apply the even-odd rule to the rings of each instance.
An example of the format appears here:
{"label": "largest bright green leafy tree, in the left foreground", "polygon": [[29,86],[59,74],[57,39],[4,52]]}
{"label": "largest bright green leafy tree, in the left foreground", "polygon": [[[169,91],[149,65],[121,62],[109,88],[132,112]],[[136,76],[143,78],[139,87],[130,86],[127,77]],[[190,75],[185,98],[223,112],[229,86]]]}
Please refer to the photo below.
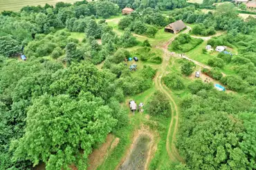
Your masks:
{"label": "largest bright green leafy tree, in the left foreground", "polygon": [[[35,164],[42,159],[46,169],[67,169],[77,158],[86,158],[95,141],[104,142],[115,125],[111,109],[88,92],[80,92],[77,100],[67,95],[44,95],[28,108],[25,134],[12,143],[12,149],[16,159],[25,157]],[[79,149],[84,150],[84,156]]]}

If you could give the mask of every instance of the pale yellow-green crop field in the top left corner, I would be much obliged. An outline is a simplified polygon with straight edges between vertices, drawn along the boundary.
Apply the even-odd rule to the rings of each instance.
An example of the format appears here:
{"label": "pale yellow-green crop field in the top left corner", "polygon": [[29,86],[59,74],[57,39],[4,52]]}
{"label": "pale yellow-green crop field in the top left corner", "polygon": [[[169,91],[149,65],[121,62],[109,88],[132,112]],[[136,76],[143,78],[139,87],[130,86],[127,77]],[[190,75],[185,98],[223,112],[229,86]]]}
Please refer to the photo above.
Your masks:
{"label": "pale yellow-green crop field in the top left corner", "polygon": [[44,6],[46,3],[55,5],[57,2],[74,3],[78,0],[0,0],[0,12],[3,10],[19,11],[24,6]]}

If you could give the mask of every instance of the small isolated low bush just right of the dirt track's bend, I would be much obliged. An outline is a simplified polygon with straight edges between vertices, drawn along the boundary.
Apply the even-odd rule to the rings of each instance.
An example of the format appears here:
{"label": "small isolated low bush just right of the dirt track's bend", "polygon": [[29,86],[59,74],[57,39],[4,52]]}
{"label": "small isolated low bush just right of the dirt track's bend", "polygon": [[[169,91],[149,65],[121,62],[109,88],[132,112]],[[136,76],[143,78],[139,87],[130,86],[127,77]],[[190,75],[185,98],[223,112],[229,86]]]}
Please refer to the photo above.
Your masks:
{"label": "small isolated low bush just right of the dirt track's bend", "polygon": [[170,89],[184,89],[185,85],[179,74],[167,74],[163,77],[163,82]]}

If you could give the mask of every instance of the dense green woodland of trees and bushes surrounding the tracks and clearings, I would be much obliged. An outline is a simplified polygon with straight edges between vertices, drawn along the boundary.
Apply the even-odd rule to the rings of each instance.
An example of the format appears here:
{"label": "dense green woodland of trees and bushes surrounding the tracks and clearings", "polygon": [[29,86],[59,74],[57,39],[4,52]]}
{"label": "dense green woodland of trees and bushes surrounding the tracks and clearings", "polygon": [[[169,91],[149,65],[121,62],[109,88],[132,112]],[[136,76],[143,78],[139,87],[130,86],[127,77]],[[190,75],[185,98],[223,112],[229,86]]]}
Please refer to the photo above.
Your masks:
{"label": "dense green woodland of trees and bushes surrounding the tracks and clearings", "polygon": [[[120,20],[122,34],[117,34],[104,19],[126,6],[136,11]],[[169,11],[163,15],[161,10]],[[2,12],[0,169],[31,169],[39,162],[45,162],[46,169],[68,169],[71,164],[86,169],[93,148],[129,124],[120,103],[153,86],[156,70],[145,65],[133,76],[123,61],[134,54],[145,63],[163,61],[149,41],[140,42],[132,33],[153,38],[179,19],[194,24],[190,34],[225,31],[208,44],[237,48],[238,53],[219,53],[208,61],[212,70],[203,70],[234,94],[217,92],[201,81],[185,83],[185,76],[194,72],[189,61],[181,62],[179,74],[163,77],[170,89],[188,91],[182,98],[176,142],[186,164],[175,168],[256,169],[256,19],[243,21],[232,4],[204,14],[186,1],[174,0],[59,2],[55,7]],[[84,38],[73,38],[73,32]],[[170,49],[188,52],[202,43],[190,34],[180,34]],[[133,53],[127,50],[134,46],[138,49]],[[28,60],[17,60],[20,53]],[[233,72],[223,76],[226,65]],[[171,109],[167,97],[155,92],[146,111],[168,118]]]}

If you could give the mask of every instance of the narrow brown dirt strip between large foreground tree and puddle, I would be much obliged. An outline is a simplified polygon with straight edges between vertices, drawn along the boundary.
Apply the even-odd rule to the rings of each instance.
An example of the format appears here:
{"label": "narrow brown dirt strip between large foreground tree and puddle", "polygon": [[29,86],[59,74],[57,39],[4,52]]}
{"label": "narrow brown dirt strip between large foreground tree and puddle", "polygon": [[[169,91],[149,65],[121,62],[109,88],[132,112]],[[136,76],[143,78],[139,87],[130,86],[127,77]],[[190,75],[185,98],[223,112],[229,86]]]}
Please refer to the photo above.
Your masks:
{"label": "narrow brown dirt strip between large foreground tree and puddle", "polygon": [[89,155],[88,170],[97,169],[109,155],[110,151],[113,151],[118,145],[118,142],[119,138],[115,138],[112,134],[108,134],[106,142],[104,142],[98,149],[93,149],[93,152]]}

